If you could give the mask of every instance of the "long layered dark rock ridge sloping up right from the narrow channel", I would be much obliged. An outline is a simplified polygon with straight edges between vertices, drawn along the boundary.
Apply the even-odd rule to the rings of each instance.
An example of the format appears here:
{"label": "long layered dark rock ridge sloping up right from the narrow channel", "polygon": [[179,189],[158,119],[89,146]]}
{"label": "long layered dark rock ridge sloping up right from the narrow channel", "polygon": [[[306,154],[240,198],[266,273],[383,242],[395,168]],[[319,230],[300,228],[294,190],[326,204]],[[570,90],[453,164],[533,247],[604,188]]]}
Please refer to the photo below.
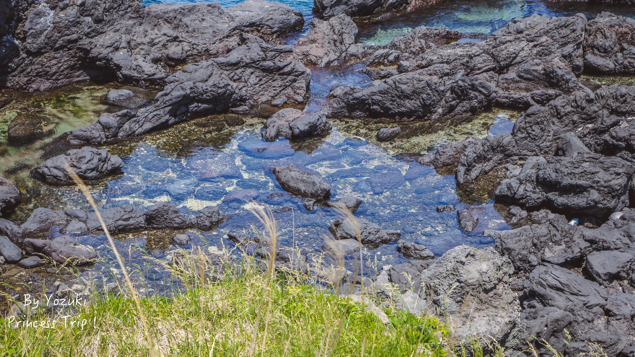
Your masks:
{"label": "long layered dark rock ridge sloping up right from the narrow channel", "polygon": [[451,44],[435,44],[447,29],[415,30],[383,48],[360,50],[363,57],[372,52],[367,65],[398,64],[399,74],[365,88],[337,87],[324,110],[342,117],[435,120],[493,105],[527,109],[564,94],[589,95],[575,77],[584,65],[586,22],[581,14],[533,15],[510,22],[485,41]]}

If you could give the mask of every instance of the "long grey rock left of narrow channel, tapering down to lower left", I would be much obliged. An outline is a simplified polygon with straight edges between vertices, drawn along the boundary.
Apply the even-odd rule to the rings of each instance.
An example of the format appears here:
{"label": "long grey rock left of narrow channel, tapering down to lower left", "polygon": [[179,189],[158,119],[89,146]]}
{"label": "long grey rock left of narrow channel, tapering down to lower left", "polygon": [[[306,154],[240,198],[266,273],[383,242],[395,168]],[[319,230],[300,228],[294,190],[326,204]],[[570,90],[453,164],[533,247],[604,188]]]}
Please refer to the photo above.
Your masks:
{"label": "long grey rock left of narrow channel, tapering down to lower left", "polygon": [[69,141],[103,144],[209,114],[245,114],[272,98],[304,98],[311,71],[292,46],[271,46],[247,34],[241,34],[239,43],[224,57],[185,65],[168,77],[149,107],[104,114],[97,123],[74,130]]}

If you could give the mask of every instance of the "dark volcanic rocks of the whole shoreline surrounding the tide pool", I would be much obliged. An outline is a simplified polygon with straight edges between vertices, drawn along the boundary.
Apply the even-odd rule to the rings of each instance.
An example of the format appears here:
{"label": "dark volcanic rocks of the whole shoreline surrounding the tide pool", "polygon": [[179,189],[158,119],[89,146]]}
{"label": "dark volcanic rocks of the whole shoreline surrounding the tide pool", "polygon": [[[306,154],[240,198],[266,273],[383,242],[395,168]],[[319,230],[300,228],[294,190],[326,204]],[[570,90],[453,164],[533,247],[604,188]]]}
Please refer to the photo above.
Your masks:
{"label": "dark volcanic rocks of the whole shoreline surrounding the tide pool", "polygon": [[[105,149],[82,145],[121,142],[211,114],[268,118],[262,128],[265,142],[323,137],[333,129],[330,120],[382,118],[394,125],[379,130],[377,140],[390,142],[402,135],[400,123],[465,118],[492,107],[522,111],[509,134],[468,137],[413,156],[422,165],[451,170],[463,192],[473,193],[481,180],[498,175],[493,194],[497,203],[512,205],[509,224],[516,229],[485,231],[495,239],[493,247],[460,245],[435,259],[425,245],[400,239],[401,232],[357,217],[357,225],[333,219],[328,230],[336,240],[323,247],[324,254],[396,245],[411,260],[384,266],[370,281],[377,294],[392,299],[391,286],[403,296],[417,295],[423,307],[404,308],[446,314],[459,340],[491,336],[514,356],[528,347],[524,341],[530,337],[568,356],[593,346],[609,357],[634,356],[635,86],[601,86],[578,76],[635,74],[635,20],[607,12],[592,20],[582,14],[533,15],[516,18],[491,36],[418,27],[384,46],[355,42],[358,28],[351,17],[419,3],[316,1],[316,15],[323,20],[314,20],[307,36],[291,46],[281,36],[300,29],[304,18],[276,2],[142,8],[140,2],[122,6],[112,0],[56,6],[15,1],[4,11],[9,25],[0,28],[0,46],[9,53],[6,63],[0,62],[0,83],[34,91],[90,77],[163,88],[153,100],[141,92],[110,91],[104,100],[126,109],[105,112],[97,122],[70,132],[67,144],[77,149],[31,171],[49,185],[72,184],[66,162],[89,184],[125,165]],[[373,82],[337,86],[321,111],[300,111],[310,68],[343,63],[363,65]],[[276,157],[276,149],[268,147],[243,149],[269,150],[262,155]],[[202,161],[190,170],[203,178],[240,177],[227,158],[213,160],[224,163],[222,172]],[[267,171],[302,200],[307,212],[326,206],[354,213],[362,204],[354,195],[331,197],[335,189],[319,172],[284,161]],[[370,183],[382,193],[382,187],[403,183],[406,176],[392,172]],[[236,199],[258,196],[247,191]],[[18,188],[0,179],[0,212],[9,213],[19,201]],[[469,209],[455,213],[454,206],[441,205],[437,211],[457,215],[467,233],[479,224]],[[216,206],[187,215],[169,203],[147,210],[120,205],[102,215],[114,233],[212,231],[227,218]],[[51,233],[54,228],[61,235]],[[21,224],[0,218],[0,272],[5,263],[39,267],[43,258],[68,266],[90,264],[97,257],[94,247],[80,245],[69,234],[100,229],[94,212],[79,209],[36,208]],[[236,245],[254,243],[262,258],[269,254],[266,241],[228,236]],[[173,241],[189,244],[181,234]],[[307,262],[298,253],[280,257],[280,266]],[[154,281],[159,273],[144,277]],[[551,355],[547,347],[537,347],[541,356]]]}

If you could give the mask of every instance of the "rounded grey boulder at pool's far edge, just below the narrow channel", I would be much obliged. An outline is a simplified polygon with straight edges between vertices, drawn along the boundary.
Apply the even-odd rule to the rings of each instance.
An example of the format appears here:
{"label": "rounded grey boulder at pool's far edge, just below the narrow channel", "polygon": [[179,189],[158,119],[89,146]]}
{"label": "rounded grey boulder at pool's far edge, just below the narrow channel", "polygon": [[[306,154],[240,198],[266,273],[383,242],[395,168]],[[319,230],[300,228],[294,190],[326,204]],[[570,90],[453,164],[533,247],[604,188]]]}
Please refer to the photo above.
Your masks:
{"label": "rounded grey boulder at pool's far edge, just below the narrow channel", "polygon": [[312,135],[325,135],[333,125],[323,112],[305,113],[298,109],[286,108],[267,119],[262,137],[274,141],[278,137],[288,139]]}

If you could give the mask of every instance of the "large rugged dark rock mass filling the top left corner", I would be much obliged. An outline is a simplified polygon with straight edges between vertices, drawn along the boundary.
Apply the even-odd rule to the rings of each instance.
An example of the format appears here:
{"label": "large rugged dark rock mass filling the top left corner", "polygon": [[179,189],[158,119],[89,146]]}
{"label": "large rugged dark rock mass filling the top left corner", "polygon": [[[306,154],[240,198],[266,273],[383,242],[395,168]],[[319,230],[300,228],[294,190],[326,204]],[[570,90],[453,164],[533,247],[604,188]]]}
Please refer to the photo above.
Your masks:
{"label": "large rugged dark rock mass filling the top left corner", "polygon": [[153,4],[140,0],[3,3],[0,82],[46,90],[79,78],[161,84],[168,67],[208,60],[242,33],[267,41],[302,28],[300,11],[274,1]]}

